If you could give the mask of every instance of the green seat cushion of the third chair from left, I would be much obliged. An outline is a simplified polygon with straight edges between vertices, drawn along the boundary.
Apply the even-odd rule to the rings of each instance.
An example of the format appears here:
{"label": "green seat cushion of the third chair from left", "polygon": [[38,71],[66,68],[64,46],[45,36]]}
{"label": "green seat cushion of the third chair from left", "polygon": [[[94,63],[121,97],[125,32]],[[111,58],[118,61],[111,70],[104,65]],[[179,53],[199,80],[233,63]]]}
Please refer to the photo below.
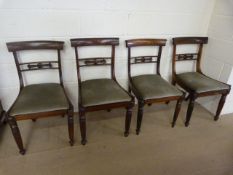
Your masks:
{"label": "green seat cushion of the third chair from left", "polygon": [[159,75],[139,75],[132,77],[132,81],[139,94],[137,98],[143,100],[182,95],[181,91]]}

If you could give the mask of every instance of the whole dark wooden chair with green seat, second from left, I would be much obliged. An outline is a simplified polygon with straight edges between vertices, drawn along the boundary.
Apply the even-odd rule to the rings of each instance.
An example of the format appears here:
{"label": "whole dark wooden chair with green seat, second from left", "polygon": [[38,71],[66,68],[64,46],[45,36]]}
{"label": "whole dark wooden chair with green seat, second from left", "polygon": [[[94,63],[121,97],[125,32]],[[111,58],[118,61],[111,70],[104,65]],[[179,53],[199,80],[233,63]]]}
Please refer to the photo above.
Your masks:
{"label": "whole dark wooden chair with green seat, second from left", "polygon": [[[71,39],[71,46],[75,49],[77,75],[79,83],[79,121],[81,143],[86,144],[85,113],[97,110],[125,107],[127,109],[124,135],[128,136],[134,98],[124,90],[115,77],[115,47],[119,45],[119,38],[78,38]],[[109,46],[110,57],[79,58],[78,48],[87,46]],[[110,66],[111,78],[91,79],[81,81],[80,69],[89,66]]]}

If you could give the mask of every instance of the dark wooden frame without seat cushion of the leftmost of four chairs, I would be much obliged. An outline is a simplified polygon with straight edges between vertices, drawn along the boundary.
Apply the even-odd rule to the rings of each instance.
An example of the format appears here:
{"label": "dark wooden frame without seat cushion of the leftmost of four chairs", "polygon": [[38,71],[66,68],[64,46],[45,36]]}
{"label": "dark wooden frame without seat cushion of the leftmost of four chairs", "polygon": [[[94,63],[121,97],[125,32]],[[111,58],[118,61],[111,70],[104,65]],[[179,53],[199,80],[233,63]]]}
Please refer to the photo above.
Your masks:
{"label": "dark wooden frame without seat cushion of the leftmost of four chairs", "polygon": [[[19,152],[23,155],[25,154],[25,149],[23,147],[23,142],[20,134],[20,130],[17,125],[17,120],[27,120],[32,119],[33,121],[36,121],[38,118],[45,118],[45,117],[51,117],[51,116],[57,116],[57,115],[67,115],[68,120],[68,132],[69,132],[69,143],[72,146],[74,143],[74,122],[73,122],[73,105],[70,102],[64,86],[63,86],[63,79],[62,79],[62,70],[61,70],[61,50],[63,49],[64,42],[62,41],[22,41],[22,42],[10,42],[7,43],[8,51],[13,53],[15,64],[17,67],[19,82],[20,82],[20,92],[24,88],[24,81],[22,73],[25,71],[36,71],[36,70],[46,70],[46,69],[54,69],[58,70],[59,73],[59,80],[60,85],[62,89],[64,90],[64,94],[67,98],[67,101],[69,103],[69,109],[67,110],[56,110],[56,111],[50,111],[50,112],[40,112],[40,113],[33,113],[33,114],[24,114],[24,115],[17,115],[17,116],[10,116],[9,111],[13,107],[8,110],[7,112],[7,121],[10,125],[10,128],[12,130],[14,139],[17,143],[17,146],[19,148]],[[20,63],[18,58],[18,52],[20,51],[26,51],[26,50],[54,50],[57,51],[58,59],[57,61],[38,61],[38,62],[27,62],[27,63]],[[57,64],[55,66],[54,64]],[[27,67],[27,68],[22,68]],[[20,93],[19,92],[19,93]],[[16,98],[17,99],[17,98]]]}

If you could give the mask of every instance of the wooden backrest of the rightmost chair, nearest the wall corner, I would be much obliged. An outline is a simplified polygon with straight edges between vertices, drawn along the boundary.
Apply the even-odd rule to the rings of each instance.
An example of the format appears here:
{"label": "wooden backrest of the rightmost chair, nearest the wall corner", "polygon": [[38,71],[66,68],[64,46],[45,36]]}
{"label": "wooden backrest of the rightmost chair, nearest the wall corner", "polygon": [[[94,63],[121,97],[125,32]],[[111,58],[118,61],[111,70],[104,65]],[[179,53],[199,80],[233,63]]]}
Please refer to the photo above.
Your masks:
{"label": "wooden backrest of the rightmost chair, nearest the wall corner", "polygon": [[[201,55],[203,44],[208,43],[208,37],[177,37],[173,38],[172,76],[176,74],[176,61],[196,61],[196,71],[201,71]],[[177,54],[177,45],[198,45],[196,53]]]}

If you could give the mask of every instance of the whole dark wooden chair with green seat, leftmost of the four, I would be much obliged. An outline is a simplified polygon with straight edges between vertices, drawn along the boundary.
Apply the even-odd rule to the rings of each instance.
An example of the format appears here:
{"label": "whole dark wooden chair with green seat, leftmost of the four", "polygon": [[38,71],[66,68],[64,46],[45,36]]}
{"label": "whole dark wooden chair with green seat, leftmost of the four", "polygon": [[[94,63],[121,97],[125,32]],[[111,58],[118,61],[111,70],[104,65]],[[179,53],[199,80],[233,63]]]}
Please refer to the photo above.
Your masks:
{"label": "whole dark wooden chair with green seat, leftmost of the four", "polygon": [[[68,116],[68,131],[70,145],[74,143],[73,105],[69,101],[62,82],[61,50],[64,42],[60,41],[23,41],[7,43],[9,52],[13,52],[16,63],[20,92],[15,102],[7,112],[7,120],[11,127],[14,139],[21,154],[25,154],[17,120],[65,115]],[[57,61],[20,62],[18,52],[27,50],[54,50],[57,52]],[[26,85],[23,73],[29,71],[57,70],[59,83],[42,83]]]}

